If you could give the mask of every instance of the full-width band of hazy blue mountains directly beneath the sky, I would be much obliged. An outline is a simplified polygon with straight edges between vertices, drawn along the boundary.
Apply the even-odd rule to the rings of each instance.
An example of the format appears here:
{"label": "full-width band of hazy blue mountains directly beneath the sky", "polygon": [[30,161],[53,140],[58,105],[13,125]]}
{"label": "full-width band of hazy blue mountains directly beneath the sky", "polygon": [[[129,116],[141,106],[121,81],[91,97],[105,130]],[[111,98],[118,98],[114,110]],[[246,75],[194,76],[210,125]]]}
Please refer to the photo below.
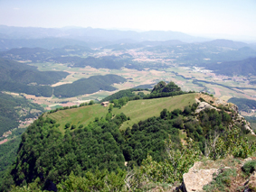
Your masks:
{"label": "full-width band of hazy blue mountains directly beneath the sky", "polygon": [[36,28],[10,27],[0,25],[0,51],[14,48],[43,48],[52,50],[65,46],[82,46],[107,49],[133,49],[138,47],[176,46],[186,43],[200,43],[205,46],[240,49],[256,44],[241,41],[211,40],[194,37],[184,32],[133,32],[93,28]]}

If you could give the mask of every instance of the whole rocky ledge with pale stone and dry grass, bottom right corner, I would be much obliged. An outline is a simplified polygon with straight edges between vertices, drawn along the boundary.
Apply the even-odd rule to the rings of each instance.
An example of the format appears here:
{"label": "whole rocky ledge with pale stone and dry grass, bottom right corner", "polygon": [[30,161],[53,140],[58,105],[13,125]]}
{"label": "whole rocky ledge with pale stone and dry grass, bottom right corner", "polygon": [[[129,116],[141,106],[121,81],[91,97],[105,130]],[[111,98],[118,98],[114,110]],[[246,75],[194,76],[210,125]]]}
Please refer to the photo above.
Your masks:
{"label": "whole rocky ledge with pale stone and dry grass, bottom right corner", "polygon": [[[249,176],[245,173],[242,173],[242,167],[244,164],[251,160],[256,160],[256,157],[251,157],[244,160],[234,160],[232,157],[227,157],[226,159],[218,161],[207,160],[204,162],[195,162],[194,166],[183,175],[184,181],[182,186],[177,187],[175,191],[182,190],[183,192],[203,192],[205,185],[211,184],[213,180],[216,180],[213,179],[213,174],[219,175],[227,169],[235,170],[235,175],[225,176],[228,177],[226,179],[230,179],[230,183],[225,185],[225,191],[256,191],[256,170],[254,169],[254,171]],[[217,189],[216,184],[216,182],[213,184],[215,189]],[[241,190],[237,190],[238,188]]]}

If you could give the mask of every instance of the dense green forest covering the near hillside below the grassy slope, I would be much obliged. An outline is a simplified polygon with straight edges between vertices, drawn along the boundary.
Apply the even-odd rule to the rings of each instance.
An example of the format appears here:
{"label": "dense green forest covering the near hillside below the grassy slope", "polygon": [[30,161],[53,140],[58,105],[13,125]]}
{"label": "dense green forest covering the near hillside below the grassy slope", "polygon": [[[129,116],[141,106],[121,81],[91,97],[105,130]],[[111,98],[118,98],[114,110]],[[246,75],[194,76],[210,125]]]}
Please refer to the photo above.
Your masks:
{"label": "dense green forest covering the near hillside below the grassy slope", "polygon": [[[162,92],[165,87],[179,90],[175,84],[168,87],[158,84],[153,90]],[[183,102],[182,99],[180,102]],[[254,144],[246,142],[249,131],[242,125],[244,120],[236,121],[236,112],[222,106],[196,112],[198,105],[190,103],[173,111],[163,107],[157,116],[130,124],[125,130],[119,128],[121,124],[129,123],[130,117],[125,113],[114,114],[111,105],[108,110],[104,110],[104,116],[96,114],[94,121],[87,124],[81,123],[78,118],[75,122],[63,125],[62,121],[66,117],[60,118],[59,112],[58,121],[45,114],[22,135],[18,157],[12,170],[5,175],[2,190],[10,185],[26,186],[33,182],[35,188],[53,191],[58,188],[63,191],[73,186],[74,180],[80,182],[80,179],[84,179],[85,183],[89,183],[86,186],[79,184],[75,188],[90,191],[95,190],[91,186],[91,177],[97,178],[97,185],[102,183],[97,190],[109,185],[110,188],[119,186],[119,190],[129,190],[145,187],[150,182],[172,184],[182,180],[183,173],[199,156],[204,155],[213,160],[226,155],[245,158],[255,151],[255,147],[247,148],[249,143],[250,146]],[[100,106],[81,106],[80,111],[88,107],[93,111],[93,107]],[[122,109],[129,111],[126,107]],[[62,130],[65,130],[64,133]],[[216,134],[219,139],[215,142],[222,147],[220,151],[212,148],[211,144]],[[166,149],[169,149],[169,153]],[[175,154],[174,159],[169,159],[170,154]],[[131,169],[132,176],[129,176],[127,168]],[[119,184],[112,183],[114,180],[111,181],[110,175],[114,180],[119,180]],[[127,177],[135,183],[128,184]]]}

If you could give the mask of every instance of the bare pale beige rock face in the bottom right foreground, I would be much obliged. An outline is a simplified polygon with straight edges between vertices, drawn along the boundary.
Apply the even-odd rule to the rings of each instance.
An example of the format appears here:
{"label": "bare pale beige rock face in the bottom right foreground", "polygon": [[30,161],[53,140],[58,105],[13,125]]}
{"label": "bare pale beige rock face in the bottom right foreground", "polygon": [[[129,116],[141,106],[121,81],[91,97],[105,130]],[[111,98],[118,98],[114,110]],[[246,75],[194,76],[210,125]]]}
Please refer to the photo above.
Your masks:
{"label": "bare pale beige rock face in the bottom right foreground", "polygon": [[200,169],[202,162],[195,162],[194,166],[183,175],[182,190],[184,192],[204,191],[204,185],[213,180],[213,173],[218,169]]}

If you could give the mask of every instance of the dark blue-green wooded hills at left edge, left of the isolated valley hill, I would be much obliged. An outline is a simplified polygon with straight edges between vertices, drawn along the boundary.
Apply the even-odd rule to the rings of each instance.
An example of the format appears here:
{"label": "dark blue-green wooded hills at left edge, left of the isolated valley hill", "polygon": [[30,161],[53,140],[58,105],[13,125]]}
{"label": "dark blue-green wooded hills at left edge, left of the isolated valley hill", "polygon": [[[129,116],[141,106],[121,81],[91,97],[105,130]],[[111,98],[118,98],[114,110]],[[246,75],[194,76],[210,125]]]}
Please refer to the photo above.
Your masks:
{"label": "dark blue-green wooded hills at left edge, left of the isolated valley hill", "polygon": [[0,91],[25,93],[34,96],[52,96],[52,87],[39,85],[56,83],[67,75],[67,72],[42,72],[26,64],[0,59]]}

